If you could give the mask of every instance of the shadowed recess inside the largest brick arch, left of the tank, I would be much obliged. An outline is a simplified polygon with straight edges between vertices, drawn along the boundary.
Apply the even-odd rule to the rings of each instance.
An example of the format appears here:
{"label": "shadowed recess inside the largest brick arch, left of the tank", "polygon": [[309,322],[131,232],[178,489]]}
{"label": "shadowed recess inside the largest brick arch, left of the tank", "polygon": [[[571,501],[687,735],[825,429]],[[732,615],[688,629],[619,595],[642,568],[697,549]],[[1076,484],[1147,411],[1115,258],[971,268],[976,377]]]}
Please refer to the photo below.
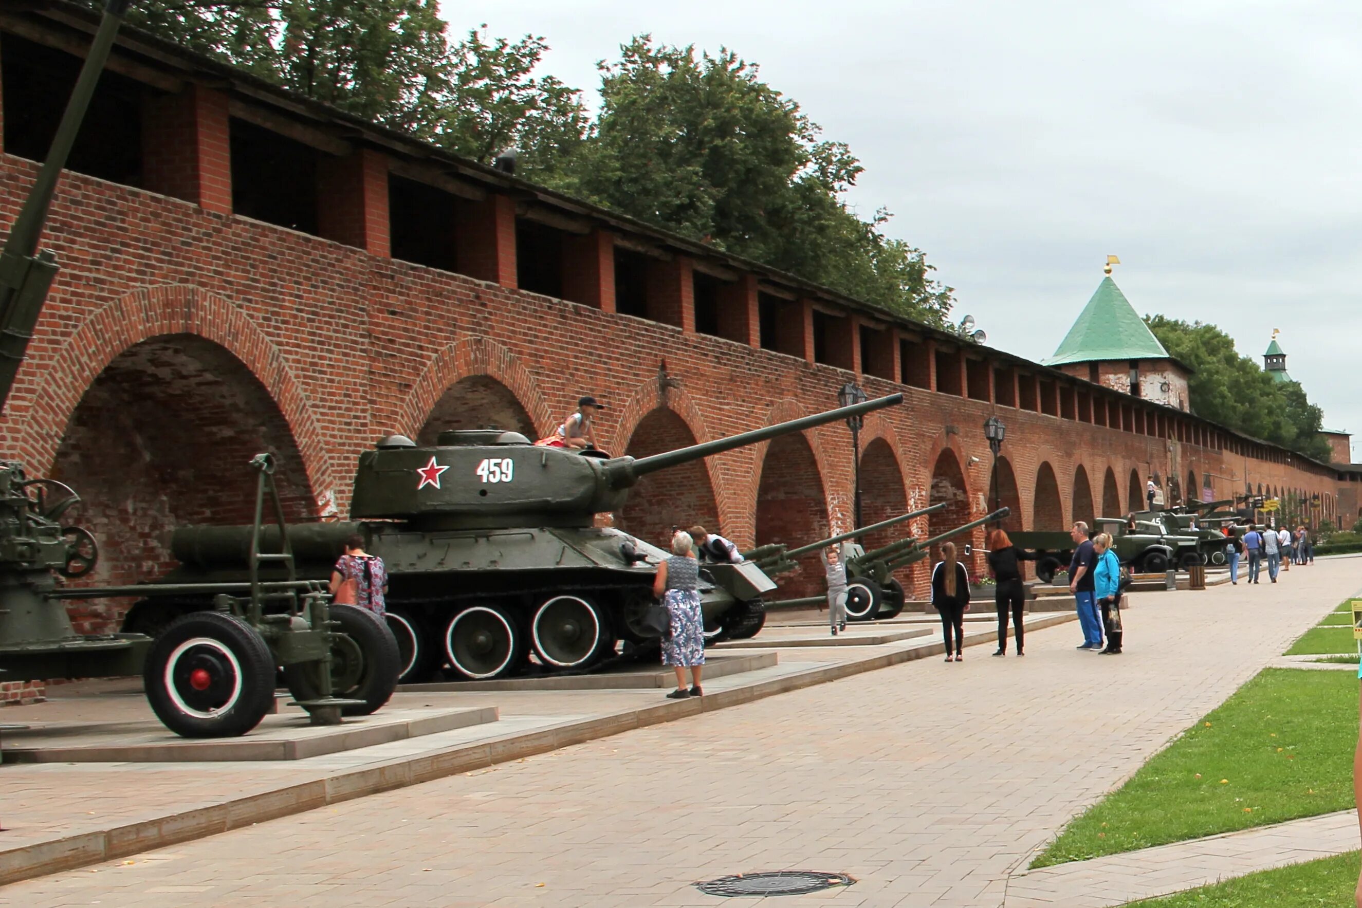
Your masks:
{"label": "shadowed recess inside the largest brick arch, left of the tank", "polygon": [[[256,479],[248,463],[260,452],[275,455],[289,520],[315,519],[289,423],[232,353],[199,336],[163,335],[114,357],[72,412],[52,468],[83,500],[72,523],[99,543],[99,564],[83,583],[155,580],[176,565],[176,527],[249,523]],[[68,609],[79,632],[108,633],[131,604]]]}

